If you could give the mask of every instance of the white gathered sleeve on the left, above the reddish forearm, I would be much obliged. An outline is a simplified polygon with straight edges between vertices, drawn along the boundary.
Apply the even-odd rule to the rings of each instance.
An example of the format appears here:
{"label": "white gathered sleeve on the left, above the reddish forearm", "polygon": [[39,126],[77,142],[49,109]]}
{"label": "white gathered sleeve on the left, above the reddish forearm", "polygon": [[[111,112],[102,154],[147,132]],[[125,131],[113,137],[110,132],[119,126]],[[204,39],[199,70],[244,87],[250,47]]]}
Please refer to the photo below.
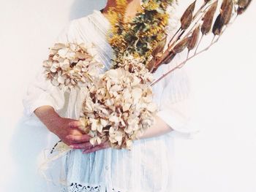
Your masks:
{"label": "white gathered sleeve on the left, above the reddish forearm", "polygon": [[[72,21],[65,26],[55,42],[67,42],[72,39]],[[24,113],[27,116],[34,115],[34,110],[38,107],[49,105],[58,112],[64,107],[64,91],[53,86],[49,80],[45,79],[44,68],[40,64],[39,70],[29,83],[29,87],[23,96]]]}

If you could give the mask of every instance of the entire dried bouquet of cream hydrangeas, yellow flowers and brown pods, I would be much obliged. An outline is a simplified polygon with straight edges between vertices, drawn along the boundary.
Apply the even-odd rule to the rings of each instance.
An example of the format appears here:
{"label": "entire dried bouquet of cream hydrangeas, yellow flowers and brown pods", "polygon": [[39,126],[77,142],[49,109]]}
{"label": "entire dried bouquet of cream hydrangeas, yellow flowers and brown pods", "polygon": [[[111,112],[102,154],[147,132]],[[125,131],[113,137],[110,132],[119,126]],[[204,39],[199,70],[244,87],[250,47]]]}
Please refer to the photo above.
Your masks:
{"label": "entire dried bouquet of cream hydrangeas, yellow flowers and brown pods", "polygon": [[[124,23],[127,1],[116,3],[108,14],[112,24],[109,42],[116,55],[112,69],[101,74],[103,66],[94,47],[72,43],[54,45],[43,66],[45,77],[53,85],[84,89],[86,99],[80,122],[91,136],[92,145],[108,141],[112,147],[129,149],[132,140],[154,123],[157,107],[151,87],[214,45],[251,1],[223,0],[217,9],[219,0],[205,0],[197,12],[193,1],[181,17],[180,28],[167,42],[167,50],[164,50],[169,17],[166,10],[173,0],[143,0],[143,10],[128,23]],[[210,34],[211,44],[197,52],[203,37]],[[153,82],[151,72],[162,64],[170,64],[184,50],[187,59]]]}

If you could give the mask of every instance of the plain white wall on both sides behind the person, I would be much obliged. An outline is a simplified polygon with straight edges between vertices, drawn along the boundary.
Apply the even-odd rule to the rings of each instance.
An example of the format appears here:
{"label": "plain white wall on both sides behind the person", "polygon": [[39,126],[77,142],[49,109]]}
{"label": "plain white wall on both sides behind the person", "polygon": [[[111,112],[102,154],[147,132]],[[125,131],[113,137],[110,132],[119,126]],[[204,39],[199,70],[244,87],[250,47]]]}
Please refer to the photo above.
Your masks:
{"label": "plain white wall on both sides behind the person", "polygon": [[[0,4],[0,191],[10,192],[15,180],[5,184],[17,169],[10,143],[22,116],[23,94],[67,22],[101,9],[105,1]],[[253,1],[217,45],[186,66],[192,83],[191,126],[201,131],[193,139],[176,139],[174,192],[256,191],[255,6]]]}

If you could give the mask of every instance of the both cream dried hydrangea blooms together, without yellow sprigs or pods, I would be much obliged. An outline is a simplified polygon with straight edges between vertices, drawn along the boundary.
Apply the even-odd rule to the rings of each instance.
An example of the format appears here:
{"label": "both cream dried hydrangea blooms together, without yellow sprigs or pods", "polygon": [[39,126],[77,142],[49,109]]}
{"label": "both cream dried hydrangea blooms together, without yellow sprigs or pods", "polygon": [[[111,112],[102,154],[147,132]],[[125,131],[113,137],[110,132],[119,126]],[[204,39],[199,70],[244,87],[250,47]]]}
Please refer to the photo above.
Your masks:
{"label": "both cream dried hydrangea blooms together, without yellow sprigs or pods", "polygon": [[154,123],[152,74],[131,57],[100,73],[103,66],[92,53],[91,45],[56,44],[44,62],[45,77],[59,88],[84,90],[80,128],[91,136],[91,145],[108,141],[111,147],[129,149]]}

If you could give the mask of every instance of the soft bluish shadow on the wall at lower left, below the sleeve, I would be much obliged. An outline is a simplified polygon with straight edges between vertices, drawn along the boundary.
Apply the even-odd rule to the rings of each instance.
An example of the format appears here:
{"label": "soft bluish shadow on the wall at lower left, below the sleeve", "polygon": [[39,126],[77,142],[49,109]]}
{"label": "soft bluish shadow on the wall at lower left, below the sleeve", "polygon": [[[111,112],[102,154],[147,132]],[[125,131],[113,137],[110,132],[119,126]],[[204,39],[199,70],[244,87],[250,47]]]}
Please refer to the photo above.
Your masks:
{"label": "soft bluish shadow on the wall at lower left, below the sleeve", "polygon": [[38,160],[42,149],[48,145],[49,132],[38,123],[27,123],[20,118],[11,140],[10,153],[14,172],[7,185],[8,192],[46,192],[49,185],[38,172]]}

